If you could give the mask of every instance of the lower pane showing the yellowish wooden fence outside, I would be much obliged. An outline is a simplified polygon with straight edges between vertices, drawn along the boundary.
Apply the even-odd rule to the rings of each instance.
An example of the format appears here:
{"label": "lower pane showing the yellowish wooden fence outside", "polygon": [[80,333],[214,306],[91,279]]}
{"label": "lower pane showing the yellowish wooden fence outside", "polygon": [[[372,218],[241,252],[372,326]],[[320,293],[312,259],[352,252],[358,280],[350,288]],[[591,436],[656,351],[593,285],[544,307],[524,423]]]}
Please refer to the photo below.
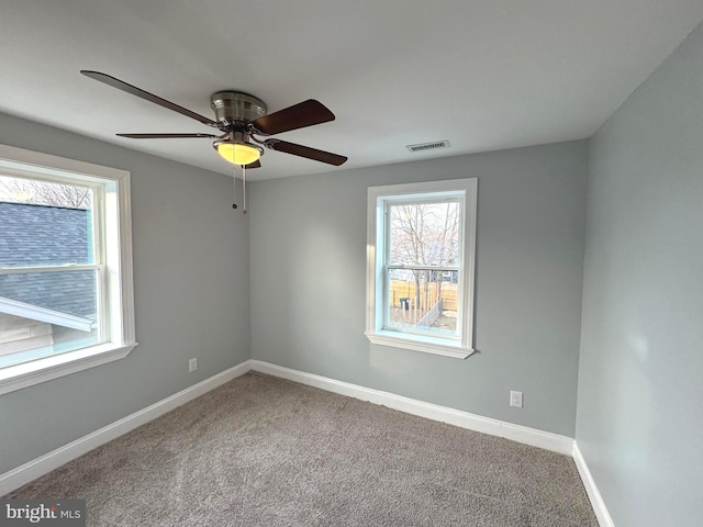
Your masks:
{"label": "lower pane showing the yellowish wooden fence outside", "polygon": [[457,271],[390,269],[386,283],[387,329],[459,337]]}

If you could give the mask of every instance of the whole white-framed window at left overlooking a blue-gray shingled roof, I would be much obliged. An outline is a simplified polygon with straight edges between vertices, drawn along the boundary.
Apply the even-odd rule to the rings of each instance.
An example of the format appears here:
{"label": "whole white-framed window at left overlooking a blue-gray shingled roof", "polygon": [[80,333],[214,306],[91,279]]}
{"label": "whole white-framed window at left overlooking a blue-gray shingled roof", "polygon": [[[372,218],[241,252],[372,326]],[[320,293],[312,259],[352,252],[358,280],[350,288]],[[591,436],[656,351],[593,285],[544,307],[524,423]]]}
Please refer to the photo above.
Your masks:
{"label": "whole white-framed window at left overlooking a blue-gray shingled roof", "polygon": [[0,393],[136,346],[130,173],[0,145]]}

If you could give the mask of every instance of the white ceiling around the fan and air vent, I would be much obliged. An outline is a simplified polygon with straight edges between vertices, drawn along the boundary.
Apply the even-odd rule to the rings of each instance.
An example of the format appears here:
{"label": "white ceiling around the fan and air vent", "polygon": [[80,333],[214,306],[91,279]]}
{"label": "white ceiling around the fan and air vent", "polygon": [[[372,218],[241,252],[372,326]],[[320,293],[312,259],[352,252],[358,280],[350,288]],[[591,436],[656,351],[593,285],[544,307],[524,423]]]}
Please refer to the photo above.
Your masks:
{"label": "white ceiling around the fan and air vent", "polygon": [[232,173],[209,139],[115,137],[212,128],[93,69],[213,119],[224,89],[336,114],[278,137],[345,165],[267,150],[252,179],[456,156],[591,136],[701,20],[701,0],[0,0],[0,111]]}

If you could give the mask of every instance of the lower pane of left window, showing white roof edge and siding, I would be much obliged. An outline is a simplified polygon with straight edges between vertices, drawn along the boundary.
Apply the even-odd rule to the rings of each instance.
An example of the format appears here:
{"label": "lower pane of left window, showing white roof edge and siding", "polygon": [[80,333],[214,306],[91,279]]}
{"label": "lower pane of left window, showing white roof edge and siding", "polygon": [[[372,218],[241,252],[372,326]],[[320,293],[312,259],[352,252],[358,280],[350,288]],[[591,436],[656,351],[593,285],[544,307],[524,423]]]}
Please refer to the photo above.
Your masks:
{"label": "lower pane of left window, showing white roof edge and siding", "polygon": [[0,368],[97,344],[98,272],[0,274]]}

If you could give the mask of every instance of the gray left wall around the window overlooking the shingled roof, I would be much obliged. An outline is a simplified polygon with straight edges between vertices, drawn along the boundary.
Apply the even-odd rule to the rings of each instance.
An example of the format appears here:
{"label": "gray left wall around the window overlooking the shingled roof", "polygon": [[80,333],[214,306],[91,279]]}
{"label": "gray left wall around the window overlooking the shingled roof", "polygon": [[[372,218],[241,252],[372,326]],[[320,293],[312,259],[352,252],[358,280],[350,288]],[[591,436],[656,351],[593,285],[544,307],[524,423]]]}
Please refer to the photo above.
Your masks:
{"label": "gray left wall around the window overlooking the shingled roof", "polygon": [[228,177],[3,114],[0,143],[132,172],[140,343],[124,360],[0,395],[3,473],[247,360],[249,255]]}

